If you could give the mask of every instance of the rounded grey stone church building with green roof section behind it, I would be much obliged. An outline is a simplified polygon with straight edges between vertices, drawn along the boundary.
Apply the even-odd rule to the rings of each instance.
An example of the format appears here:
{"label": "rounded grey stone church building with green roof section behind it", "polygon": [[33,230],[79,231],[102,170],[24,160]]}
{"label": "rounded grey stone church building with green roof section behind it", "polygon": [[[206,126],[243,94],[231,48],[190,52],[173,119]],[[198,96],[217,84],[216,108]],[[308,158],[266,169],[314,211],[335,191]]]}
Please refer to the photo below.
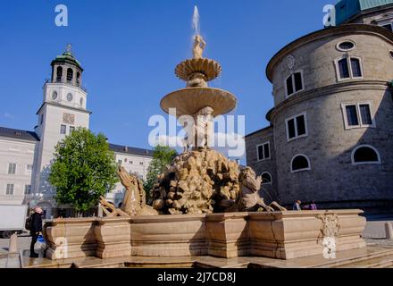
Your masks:
{"label": "rounded grey stone church building with green roof section behind it", "polygon": [[268,63],[274,107],[246,137],[247,164],[287,206],[391,207],[393,1],[340,1],[336,23]]}

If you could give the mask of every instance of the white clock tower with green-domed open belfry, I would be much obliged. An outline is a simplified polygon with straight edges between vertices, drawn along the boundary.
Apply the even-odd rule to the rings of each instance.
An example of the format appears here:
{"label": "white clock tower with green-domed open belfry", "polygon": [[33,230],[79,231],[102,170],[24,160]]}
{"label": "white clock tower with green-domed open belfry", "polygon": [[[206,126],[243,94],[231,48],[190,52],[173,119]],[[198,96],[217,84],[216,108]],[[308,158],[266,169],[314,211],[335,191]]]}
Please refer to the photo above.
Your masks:
{"label": "white clock tower with green-domed open belfry", "polygon": [[35,156],[33,192],[54,206],[54,189],[48,183],[54,147],[72,130],[88,128],[88,93],[82,87],[83,69],[68,45],[52,65],[52,78],[44,86],[43,104],[38,109],[36,133],[40,139]]}

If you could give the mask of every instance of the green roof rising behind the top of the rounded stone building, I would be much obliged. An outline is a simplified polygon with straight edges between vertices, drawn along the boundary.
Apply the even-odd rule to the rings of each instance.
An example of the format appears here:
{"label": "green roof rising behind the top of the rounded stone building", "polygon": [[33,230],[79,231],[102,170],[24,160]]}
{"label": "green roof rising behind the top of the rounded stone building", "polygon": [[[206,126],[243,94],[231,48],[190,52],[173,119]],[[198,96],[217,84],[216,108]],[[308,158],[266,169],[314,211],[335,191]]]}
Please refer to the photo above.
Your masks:
{"label": "green roof rising behind the top of the rounded stone building", "polygon": [[393,4],[393,0],[341,0],[336,4],[336,24],[342,24],[357,13]]}

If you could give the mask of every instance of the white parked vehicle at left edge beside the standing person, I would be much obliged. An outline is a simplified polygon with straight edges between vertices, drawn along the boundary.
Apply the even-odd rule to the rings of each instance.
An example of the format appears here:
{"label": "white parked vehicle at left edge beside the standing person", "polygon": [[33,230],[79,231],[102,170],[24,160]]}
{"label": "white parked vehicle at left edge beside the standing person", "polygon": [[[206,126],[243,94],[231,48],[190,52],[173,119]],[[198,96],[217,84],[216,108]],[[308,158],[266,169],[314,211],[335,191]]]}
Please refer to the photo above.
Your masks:
{"label": "white parked vehicle at left edge beside the standing person", "polygon": [[9,239],[13,233],[24,231],[27,205],[0,205],[0,237]]}

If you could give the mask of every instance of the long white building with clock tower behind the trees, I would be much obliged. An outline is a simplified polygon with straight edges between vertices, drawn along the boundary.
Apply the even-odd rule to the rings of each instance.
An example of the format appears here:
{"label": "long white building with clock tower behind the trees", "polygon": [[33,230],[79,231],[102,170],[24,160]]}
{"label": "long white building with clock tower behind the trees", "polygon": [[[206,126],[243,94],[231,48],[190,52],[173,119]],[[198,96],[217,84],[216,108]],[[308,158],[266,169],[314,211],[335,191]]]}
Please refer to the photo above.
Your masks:
{"label": "long white building with clock tower behind the trees", "polygon": [[[71,46],[57,56],[52,78],[46,80],[43,103],[38,109],[34,131],[0,127],[0,204],[42,206],[46,218],[61,210],[70,214],[69,206],[58,206],[55,189],[48,183],[54,147],[75,128],[89,127],[88,92],[82,86],[83,68],[72,55]],[[147,149],[110,144],[118,164],[128,172],[146,178],[153,152]],[[119,182],[107,198],[118,205],[124,189]]]}

